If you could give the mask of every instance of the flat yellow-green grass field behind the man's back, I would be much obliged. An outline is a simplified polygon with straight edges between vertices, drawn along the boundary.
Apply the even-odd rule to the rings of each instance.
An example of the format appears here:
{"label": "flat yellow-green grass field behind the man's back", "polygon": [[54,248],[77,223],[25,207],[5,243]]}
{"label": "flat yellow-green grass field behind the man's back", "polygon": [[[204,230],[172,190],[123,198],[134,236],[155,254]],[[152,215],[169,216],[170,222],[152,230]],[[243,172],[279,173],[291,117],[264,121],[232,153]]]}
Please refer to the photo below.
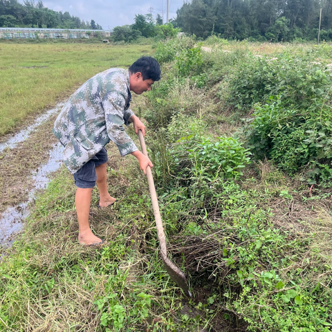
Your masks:
{"label": "flat yellow-green grass field behind the man's back", "polygon": [[65,100],[107,68],[130,66],[151,46],[0,44],[0,136]]}

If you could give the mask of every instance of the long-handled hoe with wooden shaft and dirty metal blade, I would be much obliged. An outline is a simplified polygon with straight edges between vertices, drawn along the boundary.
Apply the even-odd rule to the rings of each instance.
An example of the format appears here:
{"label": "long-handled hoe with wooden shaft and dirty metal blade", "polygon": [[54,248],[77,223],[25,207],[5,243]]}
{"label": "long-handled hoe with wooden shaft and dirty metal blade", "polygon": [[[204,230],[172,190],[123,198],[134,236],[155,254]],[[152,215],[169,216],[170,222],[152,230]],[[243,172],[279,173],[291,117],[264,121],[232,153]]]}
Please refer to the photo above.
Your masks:
{"label": "long-handled hoe with wooden shaft and dirty metal blade", "polygon": [[[142,154],[147,156],[147,148],[145,147],[145,140],[143,138],[142,131],[138,131],[138,138],[140,139],[140,147],[142,148]],[[172,278],[179,287],[182,288],[185,295],[192,296],[187,287],[187,282],[185,281],[185,274],[167,257],[167,247],[165,232],[163,228],[163,222],[161,221],[160,210],[158,205],[158,198],[156,194],[156,188],[154,187],[154,178],[152,176],[151,167],[147,167],[147,181],[149,182],[149,189],[152,200],[152,208],[154,208],[154,218],[156,219],[156,228],[159,239],[160,255],[163,259],[167,273]]]}

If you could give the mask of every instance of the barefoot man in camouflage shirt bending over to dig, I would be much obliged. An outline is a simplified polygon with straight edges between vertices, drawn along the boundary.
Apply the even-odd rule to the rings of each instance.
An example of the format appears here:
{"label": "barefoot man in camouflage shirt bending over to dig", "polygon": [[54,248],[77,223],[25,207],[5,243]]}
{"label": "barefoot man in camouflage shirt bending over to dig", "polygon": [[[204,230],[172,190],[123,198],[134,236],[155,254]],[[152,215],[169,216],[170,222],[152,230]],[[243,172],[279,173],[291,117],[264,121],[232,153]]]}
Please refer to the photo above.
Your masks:
{"label": "barefoot man in camouflage shirt bending over to dig", "polygon": [[100,193],[100,207],[112,205],[107,191],[107,151],[112,140],[121,156],[132,154],[140,169],[152,163],[136,147],[122,124],[133,123],[135,132],[145,125],[129,109],[131,93],[140,95],[160,80],[160,66],[153,57],[141,57],[128,70],[111,68],[99,73],[78,89],[59,113],[53,133],[64,145],[64,164],[73,174],[77,187],[75,205],[79,224],[78,241],[85,246],[103,243],[91,232],[89,211],[95,183]]}

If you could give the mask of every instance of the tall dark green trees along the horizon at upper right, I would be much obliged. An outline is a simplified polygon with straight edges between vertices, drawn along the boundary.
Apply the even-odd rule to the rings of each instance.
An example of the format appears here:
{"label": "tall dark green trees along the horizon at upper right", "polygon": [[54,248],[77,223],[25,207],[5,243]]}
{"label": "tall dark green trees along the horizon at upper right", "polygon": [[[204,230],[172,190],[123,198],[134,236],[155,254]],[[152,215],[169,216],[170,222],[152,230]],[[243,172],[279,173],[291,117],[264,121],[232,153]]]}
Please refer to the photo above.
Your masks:
{"label": "tall dark green trees along the horizon at upper right", "polygon": [[174,26],[206,38],[264,42],[317,38],[332,40],[332,0],[192,0],[176,12]]}

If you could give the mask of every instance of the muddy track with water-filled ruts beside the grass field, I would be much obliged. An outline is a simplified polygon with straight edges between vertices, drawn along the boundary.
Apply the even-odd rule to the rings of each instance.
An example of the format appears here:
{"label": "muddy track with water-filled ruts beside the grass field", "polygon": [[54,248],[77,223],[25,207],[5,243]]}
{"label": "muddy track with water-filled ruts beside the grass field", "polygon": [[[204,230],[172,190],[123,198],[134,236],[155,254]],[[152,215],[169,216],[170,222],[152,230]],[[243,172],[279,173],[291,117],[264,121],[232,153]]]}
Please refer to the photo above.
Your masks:
{"label": "muddy track with water-filled ruts beside the grass field", "polygon": [[0,145],[0,245],[9,245],[23,228],[28,205],[60,165],[61,147],[52,133],[61,109],[46,111]]}

